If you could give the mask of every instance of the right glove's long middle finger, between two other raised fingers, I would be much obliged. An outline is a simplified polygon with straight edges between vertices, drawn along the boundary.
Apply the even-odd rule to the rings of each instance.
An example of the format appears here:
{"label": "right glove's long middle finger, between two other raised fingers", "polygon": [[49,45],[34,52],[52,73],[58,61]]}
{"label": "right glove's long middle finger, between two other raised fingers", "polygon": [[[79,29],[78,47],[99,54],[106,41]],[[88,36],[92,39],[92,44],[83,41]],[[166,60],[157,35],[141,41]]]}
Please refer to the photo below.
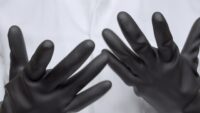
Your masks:
{"label": "right glove's long middle finger, between two other raised fingers", "polygon": [[146,62],[155,57],[155,53],[148,40],[135,21],[126,12],[118,14],[120,28],[132,49]]}

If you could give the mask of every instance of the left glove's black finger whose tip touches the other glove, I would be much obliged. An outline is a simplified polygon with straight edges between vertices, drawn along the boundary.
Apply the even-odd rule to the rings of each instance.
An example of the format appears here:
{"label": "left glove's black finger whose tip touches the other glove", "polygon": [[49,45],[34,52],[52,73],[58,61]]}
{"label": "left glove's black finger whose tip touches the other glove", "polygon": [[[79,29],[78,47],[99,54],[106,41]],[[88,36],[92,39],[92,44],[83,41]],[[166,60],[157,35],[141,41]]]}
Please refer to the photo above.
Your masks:
{"label": "left glove's black finger whose tip touches the other glove", "polygon": [[106,54],[101,53],[93,61],[91,61],[84,69],[78,72],[75,76],[71,77],[65,84],[67,88],[72,89],[71,93],[77,94],[92,79],[94,79],[107,64],[107,58],[108,57]]}

